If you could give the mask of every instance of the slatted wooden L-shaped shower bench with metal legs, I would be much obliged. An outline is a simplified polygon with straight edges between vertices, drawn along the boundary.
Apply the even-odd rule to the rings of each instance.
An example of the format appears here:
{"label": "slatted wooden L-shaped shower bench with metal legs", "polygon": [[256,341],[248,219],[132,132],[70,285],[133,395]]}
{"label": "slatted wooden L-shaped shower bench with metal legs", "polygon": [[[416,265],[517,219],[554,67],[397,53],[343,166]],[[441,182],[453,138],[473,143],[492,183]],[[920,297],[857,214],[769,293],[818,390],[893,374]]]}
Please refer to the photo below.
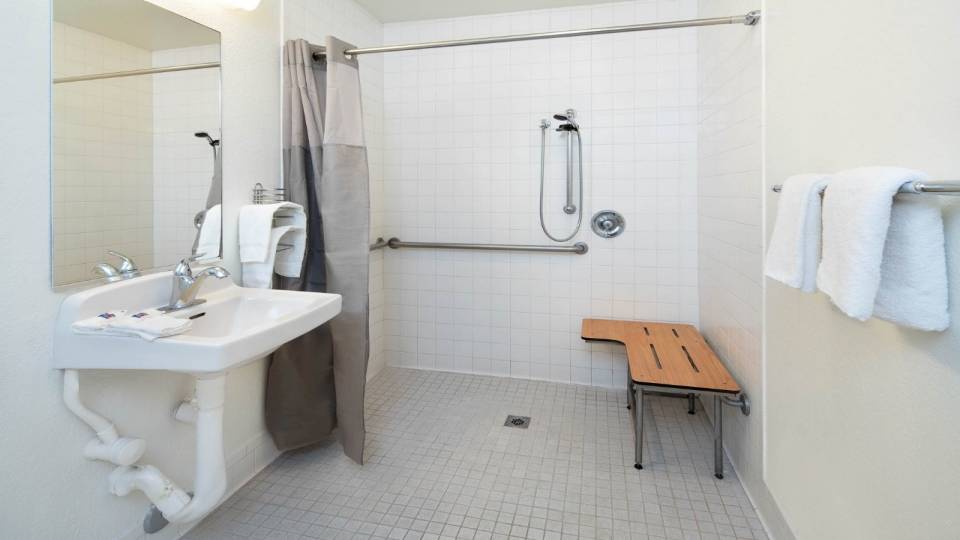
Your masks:
{"label": "slatted wooden L-shaped shower bench with metal legs", "polygon": [[636,424],[634,467],[643,468],[644,388],[684,391],[690,414],[696,410],[696,394],[713,394],[713,467],[714,475],[723,478],[722,405],[738,406],[744,414],[750,414],[750,405],[700,332],[689,324],[584,319],[580,334],[586,341],[620,343],[627,348],[627,407]]}

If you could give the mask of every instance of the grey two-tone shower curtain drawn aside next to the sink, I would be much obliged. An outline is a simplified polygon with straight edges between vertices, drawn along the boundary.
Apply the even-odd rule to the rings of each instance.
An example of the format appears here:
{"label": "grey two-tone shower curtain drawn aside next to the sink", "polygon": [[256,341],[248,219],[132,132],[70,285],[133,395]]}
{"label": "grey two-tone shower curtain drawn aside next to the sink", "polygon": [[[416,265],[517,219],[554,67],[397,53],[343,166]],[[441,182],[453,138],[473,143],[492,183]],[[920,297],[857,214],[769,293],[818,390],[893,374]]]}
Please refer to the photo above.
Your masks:
{"label": "grey two-tone shower curtain drawn aside next to the sink", "polygon": [[352,47],[334,38],[314,61],[310,44],[284,46],[283,169],[289,200],[307,212],[307,252],[287,290],[343,296],[337,317],[284,345],[267,374],[267,429],[290,450],[336,431],[363,463],[363,397],[369,356],[370,195],[360,77]]}

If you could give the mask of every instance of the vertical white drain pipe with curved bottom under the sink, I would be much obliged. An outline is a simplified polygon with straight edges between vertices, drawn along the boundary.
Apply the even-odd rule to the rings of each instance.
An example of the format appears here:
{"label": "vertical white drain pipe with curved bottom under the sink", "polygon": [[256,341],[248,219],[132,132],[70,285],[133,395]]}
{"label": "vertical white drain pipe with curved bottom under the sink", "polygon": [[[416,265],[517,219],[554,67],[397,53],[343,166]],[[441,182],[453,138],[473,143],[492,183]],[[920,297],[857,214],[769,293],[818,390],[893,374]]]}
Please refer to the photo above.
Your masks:
{"label": "vertical white drain pipe with curved bottom under the sink", "polygon": [[227,375],[222,372],[197,377],[197,463],[193,497],[185,508],[169,514],[163,512],[163,517],[171,523],[189,523],[206,516],[227,491],[227,462],[223,455],[226,380]]}

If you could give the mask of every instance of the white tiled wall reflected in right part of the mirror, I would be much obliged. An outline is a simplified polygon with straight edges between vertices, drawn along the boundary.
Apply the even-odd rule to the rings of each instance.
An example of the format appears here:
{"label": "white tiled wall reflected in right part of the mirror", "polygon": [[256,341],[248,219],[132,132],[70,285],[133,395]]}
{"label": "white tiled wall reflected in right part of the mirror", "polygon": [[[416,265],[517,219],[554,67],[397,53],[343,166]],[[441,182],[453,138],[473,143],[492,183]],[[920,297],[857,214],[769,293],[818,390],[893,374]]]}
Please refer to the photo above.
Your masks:
{"label": "white tiled wall reflected in right part of the mirror", "polygon": [[[219,45],[153,53],[154,66],[219,60]],[[175,264],[190,254],[197,235],[193,218],[206,208],[213,152],[205,139],[194,137],[198,131],[221,138],[220,70],[153,75],[153,241],[157,266]]]}

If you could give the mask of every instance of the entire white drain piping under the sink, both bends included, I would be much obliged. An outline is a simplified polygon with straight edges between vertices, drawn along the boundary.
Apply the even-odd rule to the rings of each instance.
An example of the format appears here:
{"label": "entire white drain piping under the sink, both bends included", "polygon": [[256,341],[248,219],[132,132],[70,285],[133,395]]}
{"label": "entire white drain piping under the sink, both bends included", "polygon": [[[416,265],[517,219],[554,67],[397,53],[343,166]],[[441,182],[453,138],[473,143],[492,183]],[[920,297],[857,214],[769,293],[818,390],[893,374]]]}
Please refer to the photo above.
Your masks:
{"label": "entire white drain piping under the sink, both bends included", "polygon": [[[107,419],[91,411],[80,402],[77,371],[64,370],[63,399],[77,417],[89,425],[99,440],[87,445],[84,455],[89,459],[101,459],[119,465],[110,473],[110,492],[125,496],[139,490],[150,499],[163,517],[171,523],[196,521],[216,508],[227,490],[227,466],[223,454],[223,404],[226,389],[226,373],[197,377],[197,457],[194,474],[194,495],[191,497],[159,469],[152,465],[133,465],[143,455],[146,443],[142,439],[121,438],[116,428]],[[123,441],[132,441],[120,444]],[[139,446],[134,444],[139,441]],[[123,459],[112,459],[110,452],[92,452],[95,443],[107,448],[129,448],[138,452],[117,452]],[[132,460],[132,457],[135,454]],[[155,532],[155,531],[150,531]]]}

